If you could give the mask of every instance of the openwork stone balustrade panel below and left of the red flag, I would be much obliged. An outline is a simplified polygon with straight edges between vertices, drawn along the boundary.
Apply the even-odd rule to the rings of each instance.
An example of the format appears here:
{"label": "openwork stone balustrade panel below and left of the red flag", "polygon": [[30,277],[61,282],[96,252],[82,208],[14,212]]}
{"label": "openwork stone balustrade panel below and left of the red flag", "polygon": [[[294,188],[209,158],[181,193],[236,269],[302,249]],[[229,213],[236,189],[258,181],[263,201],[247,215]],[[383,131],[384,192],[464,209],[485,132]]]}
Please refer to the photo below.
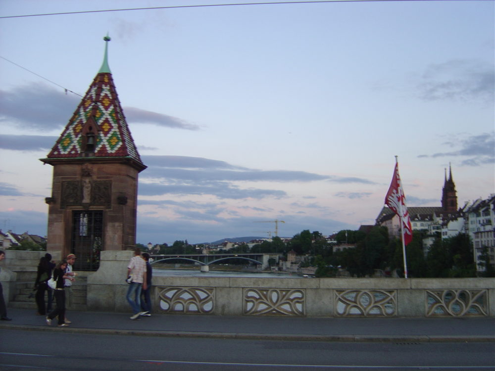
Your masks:
{"label": "openwork stone balustrade panel below and left of the red flag", "polygon": [[393,317],[397,290],[335,290],[335,303],[340,317]]}

